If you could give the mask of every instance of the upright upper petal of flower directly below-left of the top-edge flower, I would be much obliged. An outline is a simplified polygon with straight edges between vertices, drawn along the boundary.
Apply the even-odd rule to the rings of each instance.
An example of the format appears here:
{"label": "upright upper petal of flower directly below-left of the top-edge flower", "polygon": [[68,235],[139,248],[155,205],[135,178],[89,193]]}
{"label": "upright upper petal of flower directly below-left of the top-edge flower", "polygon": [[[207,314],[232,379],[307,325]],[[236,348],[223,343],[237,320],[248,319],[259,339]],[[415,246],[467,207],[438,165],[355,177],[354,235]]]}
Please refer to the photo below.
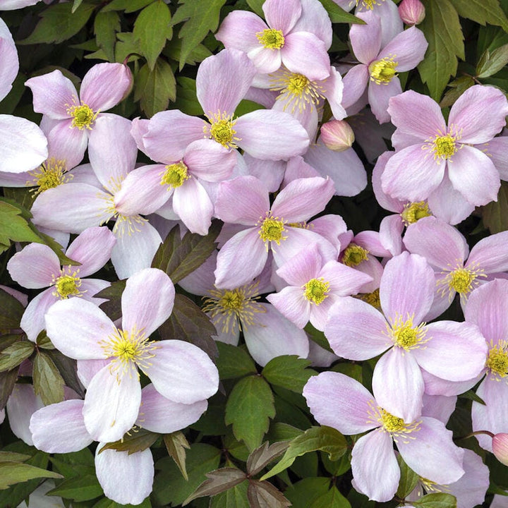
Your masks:
{"label": "upright upper petal of flower directly below-left of the top-edge flower", "polygon": [[196,95],[205,114],[233,114],[255,73],[253,63],[238,49],[223,49],[205,59],[196,75]]}

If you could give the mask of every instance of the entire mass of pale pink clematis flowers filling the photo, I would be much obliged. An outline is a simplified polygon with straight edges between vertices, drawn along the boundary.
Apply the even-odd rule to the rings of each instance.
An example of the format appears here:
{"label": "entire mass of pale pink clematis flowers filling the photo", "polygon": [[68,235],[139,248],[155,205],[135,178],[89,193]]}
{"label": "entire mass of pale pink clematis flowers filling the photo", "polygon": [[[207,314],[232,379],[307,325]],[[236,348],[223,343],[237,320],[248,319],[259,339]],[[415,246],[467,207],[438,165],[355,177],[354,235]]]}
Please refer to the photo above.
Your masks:
{"label": "entire mass of pale pink clematis flowers filling the photo", "polygon": [[[205,297],[217,340],[236,345],[243,332],[259,365],[284,354],[323,368],[337,356],[380,357],[373,394],[332,371],[303,389],[318,423],[345,435],[373,430],[353,446],[356,490],[380,502],[394,497],[395,442],[421,476],[411,499],[448,485],[461,508],[483,502],[487,466],[445,428],[457,395],[480,381],[476,394],[485,404],[473,402],[473,430],[485,432],[481,447],[508,463],[508,232],[469,253],[454,227],[496,200],[500,179],[508,180],[508,137],[495,137],[508,102],[495,87],[475,85],[446,122],[433,99],[402,92],[397,77],[427,48],[421,30],[404,30],[399,14],[414,25],[421,4],[356,4],[365,21],[349,32],[350,60],[358,63],[339,67],[329,60],[332,24],[318,0],[266,0],[265,20],[229,13],[216,34],[225,49],[198,69],[205,119],[176,109],[133,121],[104,113],[129,92],[131,73],[121,63],[94,66],[79,94],[60,71],[30,78],[40,126],[0,116],[0,184],[34,188],[32,222],[63,247],[78,235],[66,255],[79,268],[61,267],[49,247],[35,243],[9,260],[20,286],[49,288],[28,303],[21,327],[30,341],[45,329],[77,360],[87,389],[84,400],[68,390],[66,401],[42,407],[30,385],[19,385],[7,404],[11,426],[47,452],[101,443],[97,477],[117,502],[138,504],[150,494],[152,456],[149,449],[99,453],[102,445],[133,425],[159,433],[186,428],[217,391],[217,368],[198,347],[150,340],[175,296],[167,274],[150,267],[157,248],[176,221],[205,235],[213,217],[224,222],[218,252],[179,284]],[[3,22],[0,38],[3,98],[18,62]],[[243,99],[265,109],[237,117]],[[320,125],[325,101],[333,118]],[[344,121],[351,116],[354,126],[359,111],[358,143],[377,159],[376,198],[394,214],[380,231],[354,236],[335,214],[313,217],[334,195],[353,196],[367,184]],[[380,128],[388,122],[396,128],[392,152]],[[86,150],[90,163],[81,164]],[[136,164],[138,150],[154,164]],[[111,229],[104,226],[110,221]],[[121,323],[94,298],[109,282],[83,279],[109,260],[127,279]],[[435,320],[456,293],[464,322]],[[309,341],[308,322],[334,354]],[[138,368],[151,380],[143,390]],[[136,481],[111,476],[114,468]]]}

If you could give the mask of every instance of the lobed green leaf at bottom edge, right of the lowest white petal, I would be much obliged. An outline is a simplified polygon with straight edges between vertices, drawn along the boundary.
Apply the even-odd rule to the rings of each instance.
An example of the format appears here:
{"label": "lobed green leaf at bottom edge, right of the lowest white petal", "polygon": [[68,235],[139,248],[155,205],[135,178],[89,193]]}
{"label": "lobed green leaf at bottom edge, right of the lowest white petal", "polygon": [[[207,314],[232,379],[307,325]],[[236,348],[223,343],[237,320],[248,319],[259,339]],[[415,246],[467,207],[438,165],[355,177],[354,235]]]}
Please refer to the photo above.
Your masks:
{"label": "lobed green leaf at bottom edge, right of the lowest white petal", "polygon": [[182,504],[206,480],[205,473],[219,467],[220,456],[220,450],[210,444],[193,444],[187,452],[188,481],[170,457],[157,461],[155,468],[160,471],[154,480],[153,503],[156,506],[171,503],[174,507]]}

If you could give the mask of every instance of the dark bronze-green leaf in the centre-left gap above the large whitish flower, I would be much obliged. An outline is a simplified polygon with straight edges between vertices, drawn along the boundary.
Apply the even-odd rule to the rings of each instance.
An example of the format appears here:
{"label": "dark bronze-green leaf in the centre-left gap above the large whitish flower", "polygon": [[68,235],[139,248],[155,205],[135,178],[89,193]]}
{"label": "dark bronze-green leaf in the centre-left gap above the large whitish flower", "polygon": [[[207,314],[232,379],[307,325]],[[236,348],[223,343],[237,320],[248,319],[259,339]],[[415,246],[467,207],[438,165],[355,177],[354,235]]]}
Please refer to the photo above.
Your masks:
{"label": "dark bronze-green leaf in the centre-left gap above the large whitish flower", "polygon": [[213,221],[206,236],[187,231],[180,239],[180,226],[174,226],[155,253],[152,268],[166,272],[176,284],[210,258],[221,227],[219,221]]}

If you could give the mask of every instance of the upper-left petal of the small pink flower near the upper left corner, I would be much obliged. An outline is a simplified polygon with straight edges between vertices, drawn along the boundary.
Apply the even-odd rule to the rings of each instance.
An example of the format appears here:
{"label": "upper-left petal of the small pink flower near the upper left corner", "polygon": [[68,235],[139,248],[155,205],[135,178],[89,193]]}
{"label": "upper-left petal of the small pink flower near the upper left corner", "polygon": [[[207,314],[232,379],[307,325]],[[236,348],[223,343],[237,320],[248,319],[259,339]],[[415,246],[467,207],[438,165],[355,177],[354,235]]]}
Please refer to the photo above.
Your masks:
{"label": "upper-left petal of the small pink flower near the upper left corner", "polygon": [[34,111],[52,119],[68,119],[68,108],[79,105],[74,85],[58,69],[30,78],[25,85],[32,90]]}

